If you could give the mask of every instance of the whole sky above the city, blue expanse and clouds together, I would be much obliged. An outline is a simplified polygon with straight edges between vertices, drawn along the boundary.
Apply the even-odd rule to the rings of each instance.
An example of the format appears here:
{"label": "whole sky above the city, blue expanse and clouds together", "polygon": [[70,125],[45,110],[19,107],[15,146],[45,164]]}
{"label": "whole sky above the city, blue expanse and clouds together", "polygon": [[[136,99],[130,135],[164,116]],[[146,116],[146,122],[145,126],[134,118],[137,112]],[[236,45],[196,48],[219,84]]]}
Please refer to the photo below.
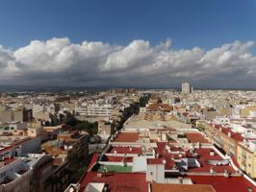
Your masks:
{"label": "whole sky above the city, blue expanse and clouds together", "polygon": [[255,0],[1,0],[0,84],[256,88]]}

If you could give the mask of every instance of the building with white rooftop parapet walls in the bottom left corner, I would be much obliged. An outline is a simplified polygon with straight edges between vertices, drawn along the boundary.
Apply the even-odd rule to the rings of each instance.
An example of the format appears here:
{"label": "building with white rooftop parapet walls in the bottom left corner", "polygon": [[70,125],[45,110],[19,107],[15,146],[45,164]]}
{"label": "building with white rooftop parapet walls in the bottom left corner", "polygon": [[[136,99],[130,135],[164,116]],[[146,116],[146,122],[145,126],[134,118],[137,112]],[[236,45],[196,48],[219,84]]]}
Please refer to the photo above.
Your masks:
{"label": "building with white rooftop parapet walls in the bottom left corner", "polygon": [[[43,191],[44,180],[52,171],[49,156],[30,154],[0,160],[0,192]],[[44,168],[39,171],[40,168]],[[37,177],[43,174],[42,177]],[[36,188],[37,187],[37,188]]]}

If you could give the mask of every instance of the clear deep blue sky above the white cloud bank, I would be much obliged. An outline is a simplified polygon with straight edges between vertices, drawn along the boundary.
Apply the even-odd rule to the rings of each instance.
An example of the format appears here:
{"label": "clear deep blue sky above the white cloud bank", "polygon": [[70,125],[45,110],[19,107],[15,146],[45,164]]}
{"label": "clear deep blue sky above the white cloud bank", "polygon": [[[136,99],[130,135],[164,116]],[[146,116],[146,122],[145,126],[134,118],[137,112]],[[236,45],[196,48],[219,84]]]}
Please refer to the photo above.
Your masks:
{"label": "clear deep blue sky above the white cloud bank", "polygon": [[254,0],[1,0],[0,44],[67,36],[152,44],[171,38],[176,48],[206,49],[236,39],[256,40]]}

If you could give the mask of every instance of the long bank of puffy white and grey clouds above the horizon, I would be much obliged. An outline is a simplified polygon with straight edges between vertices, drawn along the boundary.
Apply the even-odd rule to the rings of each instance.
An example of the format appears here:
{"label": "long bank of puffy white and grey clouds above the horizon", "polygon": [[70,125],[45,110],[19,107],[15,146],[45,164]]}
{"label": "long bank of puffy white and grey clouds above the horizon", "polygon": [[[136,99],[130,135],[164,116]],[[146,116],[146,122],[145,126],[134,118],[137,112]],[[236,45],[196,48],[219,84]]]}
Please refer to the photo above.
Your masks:
{"label": "long bank of puffy white and grey clouds above the horizon", "polygon": [[[67,37],[33,40],[10,50],[0,46],[0,81],[5,84],[173,85],[189,80],[218,87],[256,80],[254,42],[234,41],[211,50],[175,50],[171,40],[126,46],[72,43]],[[236,82],[239,80],[239,82]]]}

